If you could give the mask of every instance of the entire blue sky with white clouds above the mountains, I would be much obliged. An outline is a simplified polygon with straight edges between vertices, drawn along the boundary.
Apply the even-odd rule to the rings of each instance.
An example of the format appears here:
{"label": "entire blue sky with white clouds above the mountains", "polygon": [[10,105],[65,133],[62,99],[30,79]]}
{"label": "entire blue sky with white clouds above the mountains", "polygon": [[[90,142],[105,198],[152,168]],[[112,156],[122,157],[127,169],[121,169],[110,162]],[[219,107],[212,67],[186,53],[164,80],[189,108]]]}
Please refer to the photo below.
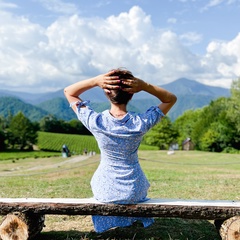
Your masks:
{"label": "entire blue sky with white clouds above the mountains", "polygon": [[0,0],[0,85],[57,91],[126,67],[162,85],[240,77],[240,0]]}

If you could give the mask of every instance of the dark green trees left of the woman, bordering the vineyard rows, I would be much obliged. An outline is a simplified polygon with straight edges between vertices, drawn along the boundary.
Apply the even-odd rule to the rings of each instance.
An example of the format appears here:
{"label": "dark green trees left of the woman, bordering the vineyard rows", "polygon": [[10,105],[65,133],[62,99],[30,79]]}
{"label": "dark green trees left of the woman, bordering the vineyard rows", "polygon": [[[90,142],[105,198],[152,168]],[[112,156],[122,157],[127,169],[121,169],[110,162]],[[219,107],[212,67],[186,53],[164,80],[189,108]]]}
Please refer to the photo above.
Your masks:
{"label": "dark green trees left of the woman, bordering the vineyard rows", "polygon": [[73,119],[63,121],[47,115],[39,122],[31,122],[21,111],[7,118],[0,116],[0,151],[6,149],[33,150],[38,131],[90,135],[85,126]]}

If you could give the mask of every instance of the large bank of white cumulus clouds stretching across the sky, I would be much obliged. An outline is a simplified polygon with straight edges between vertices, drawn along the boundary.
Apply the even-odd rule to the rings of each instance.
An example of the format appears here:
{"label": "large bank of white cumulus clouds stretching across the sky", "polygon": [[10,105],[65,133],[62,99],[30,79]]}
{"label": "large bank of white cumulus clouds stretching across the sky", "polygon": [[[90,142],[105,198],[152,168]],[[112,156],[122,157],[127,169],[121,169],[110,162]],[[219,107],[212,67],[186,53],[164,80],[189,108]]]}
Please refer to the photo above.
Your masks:
{"label": "large bank of white cumulus clouds stretching across the sky", "polygon": [[240,75],[240,35],[212,41],[197,56],[182,42],[200,35],[156,28],[137,6],[106,19],[65,16],[48,27],[5,12],[0,26],[2,88],[56,91],[116,67],[159,85],[188,77],[227,87]]}

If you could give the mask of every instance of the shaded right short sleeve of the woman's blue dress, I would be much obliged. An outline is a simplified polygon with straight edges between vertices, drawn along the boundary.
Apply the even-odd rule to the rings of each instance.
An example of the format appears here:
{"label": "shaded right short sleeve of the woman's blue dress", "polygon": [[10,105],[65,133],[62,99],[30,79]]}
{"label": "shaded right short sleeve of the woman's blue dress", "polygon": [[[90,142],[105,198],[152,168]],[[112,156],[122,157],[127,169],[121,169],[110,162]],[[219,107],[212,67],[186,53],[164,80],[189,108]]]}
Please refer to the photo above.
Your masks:
{"label": "shaded right short sleeve of the woman's blue dress", "polygon": [[158,106],[152,106],[145,113],[141,114],[141,118],[146,124],[146,131],[160,122],[164,116],[164,113]]}

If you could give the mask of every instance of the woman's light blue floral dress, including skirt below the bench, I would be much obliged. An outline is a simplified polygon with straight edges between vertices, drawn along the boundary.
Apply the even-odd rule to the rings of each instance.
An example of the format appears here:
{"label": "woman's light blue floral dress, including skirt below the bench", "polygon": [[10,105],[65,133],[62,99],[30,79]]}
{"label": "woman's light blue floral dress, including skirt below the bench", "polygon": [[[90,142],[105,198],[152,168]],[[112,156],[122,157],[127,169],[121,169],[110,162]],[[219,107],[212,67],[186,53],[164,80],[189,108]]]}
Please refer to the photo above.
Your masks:
{"label": "woman's light blue floral dress, including skirt below the bench", "polygon": [[[104,203],[135,204],[148,200],[150,186],[138,162],[138,147],[143,135],[164,116],[157,107],[145,113],[128,112],[122,119],[114,118],[109,110],[95,112],[89,101],[75,103],[78,119],[89,129],[98,142],[101,161],[91,179],[94,198]],[[81,108],[85,105],[86,108]],[[140,220],[144,227],[153,218],[92,216],[96,232],[113,227],[130,226]]]}

